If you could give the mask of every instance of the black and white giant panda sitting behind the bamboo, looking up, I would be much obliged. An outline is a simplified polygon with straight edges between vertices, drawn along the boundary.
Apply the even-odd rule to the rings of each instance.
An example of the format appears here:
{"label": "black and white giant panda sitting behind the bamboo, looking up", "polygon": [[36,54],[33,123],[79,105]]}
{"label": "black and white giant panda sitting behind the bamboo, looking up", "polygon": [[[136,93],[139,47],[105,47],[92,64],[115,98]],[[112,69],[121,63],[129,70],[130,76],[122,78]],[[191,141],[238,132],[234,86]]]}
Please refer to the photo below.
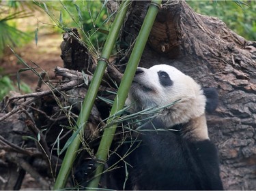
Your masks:
{"label": "black and white giant panda sitting behind the bamboo, looking up", "polygon": [[[217,104],[215,88],[202,88],[175,67],[138,67],[126,105],[132,113],[162,109],[146,116],[130,141],[111,154],[106,166],[112,170],[102,176],[102,188],[223,190],[218,151],[205,118],[205,111],[214,111]],[[88,179],[84,175],[96,166],[95,161],[85,163],[76,173],[83,186]]]}

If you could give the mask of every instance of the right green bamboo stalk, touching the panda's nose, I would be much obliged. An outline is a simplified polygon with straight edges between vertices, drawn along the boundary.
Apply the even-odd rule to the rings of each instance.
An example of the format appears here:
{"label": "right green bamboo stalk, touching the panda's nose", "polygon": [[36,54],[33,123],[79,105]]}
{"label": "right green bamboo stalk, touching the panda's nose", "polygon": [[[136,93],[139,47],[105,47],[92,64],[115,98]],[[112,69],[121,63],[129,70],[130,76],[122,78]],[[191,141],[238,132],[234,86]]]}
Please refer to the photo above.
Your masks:
{"label": "right green bamboo stalk, touching the panda's nose", "polygon": [[[145,16],[145,20],[142,24],[141,31],[137,37],[137,41],[134,45],[132,53],[130,55],[130,59],[128,61],[126,71],[124,72],[124,76],[122,78],[122,82],[119,86],[119,90],[117,91],[117,96],[115,97],[115,101],[113,103],[110,116],[107,120],[106,124],[111,124],[111,122],[118,118],[119,116],[115,116],[117,111],[121,110],[124,107],[124,103],[126,101],[128,92],[130,90],[130,86],[132,84],[133,77],[139,65],[139,61],[141,60],[141,55],[145,48],[145,44],[147,43],[147,39],[150,35],[150,31],[154,24],[154,20],[156,19],[156,15],[158,13],[161,0],[152,1],[149,10],[147,11],[147,15]],[[115,130],[117,128],[117,124],[113,124],[105,128],[104,133],[102,135],[102,139],[100,141],[100,145],[98,147],[98,152],[96,153],[96,158],[100,161],[106,161],[107,155],[109,153],[109,147],[113,141],[113,137],[115,135]],[[100,182],[100,176],[102,174],[104,165],[99,164],[96,169],[95,178],[89,183],[88,188],[94,189],[98,187]]]}

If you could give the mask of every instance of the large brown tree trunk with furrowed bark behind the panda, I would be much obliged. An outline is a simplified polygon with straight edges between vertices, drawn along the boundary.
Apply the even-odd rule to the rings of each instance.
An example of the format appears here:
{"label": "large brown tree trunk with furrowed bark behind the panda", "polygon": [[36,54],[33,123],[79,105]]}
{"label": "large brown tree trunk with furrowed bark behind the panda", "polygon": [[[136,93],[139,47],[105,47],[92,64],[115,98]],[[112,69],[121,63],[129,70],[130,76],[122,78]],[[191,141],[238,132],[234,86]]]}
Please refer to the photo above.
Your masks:
{"label": "large brown tree trunk with furrowed bark behind the panda", "polygon": [[[137,37],[149,3],[132,3],[122,44]],[[220,102],[208,116],[208,128],[220,153],[223,184],[227,190],[255,190],[256,42],[237,35],[218,18],[193,12],[185,1],[167,1],[140,66],[157,64],[172,65],[202,86],[218,88]]]}

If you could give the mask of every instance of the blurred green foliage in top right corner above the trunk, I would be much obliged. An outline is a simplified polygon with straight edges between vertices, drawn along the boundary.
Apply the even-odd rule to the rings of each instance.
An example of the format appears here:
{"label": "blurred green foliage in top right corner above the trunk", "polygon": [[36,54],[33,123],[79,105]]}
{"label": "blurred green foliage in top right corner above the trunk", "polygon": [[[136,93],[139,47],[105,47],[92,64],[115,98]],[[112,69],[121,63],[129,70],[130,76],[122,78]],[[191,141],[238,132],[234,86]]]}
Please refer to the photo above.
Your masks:
{"label": "blurred green foliage in top right corner above the trunk", "polygon": [[242,37],[256,40],[256,1],[187,1],[195,12],[216,16]]}

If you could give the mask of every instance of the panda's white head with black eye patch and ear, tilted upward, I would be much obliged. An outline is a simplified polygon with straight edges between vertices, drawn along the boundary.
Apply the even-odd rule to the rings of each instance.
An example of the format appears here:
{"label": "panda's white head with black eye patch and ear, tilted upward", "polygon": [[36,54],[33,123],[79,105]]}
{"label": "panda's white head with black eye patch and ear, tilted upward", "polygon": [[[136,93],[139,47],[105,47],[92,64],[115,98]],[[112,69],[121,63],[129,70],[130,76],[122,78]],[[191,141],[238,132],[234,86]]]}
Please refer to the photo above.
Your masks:
{"label": "panda's white head with black eye patch and ear, tilted upward", "polygon": [[214,111],[218,94],[214,88],[201,88],[193,78],[169,65],[137,69],[126,100],[132,112],[166,106],[175,101],[177,103],[162,109],[158,116],[165,128],[204,116],[205,110]]}

